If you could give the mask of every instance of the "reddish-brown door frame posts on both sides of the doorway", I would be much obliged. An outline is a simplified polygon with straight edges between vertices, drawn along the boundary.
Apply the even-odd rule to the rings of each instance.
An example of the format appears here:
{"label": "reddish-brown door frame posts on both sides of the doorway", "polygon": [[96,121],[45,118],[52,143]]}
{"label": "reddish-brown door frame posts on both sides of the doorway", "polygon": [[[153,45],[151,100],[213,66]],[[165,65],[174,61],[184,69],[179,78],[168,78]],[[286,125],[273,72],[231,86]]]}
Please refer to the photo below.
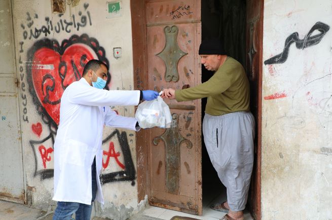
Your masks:
{"label": "reddish-brown door frame posts on both sides of the doorway", "polygon": [[[249,2],[251,0],[247,0]],[[259,72],[258,72],[258,88],[257,88],[257,152],[256,152],[256,167],[253,170],[256,178],[256,185],[252,188],[251,193],[255,193],[256,197],[250,197],[250,211],[255,219],[261,219],[261,161],[262,161],[262,71],[263,71],[263,12],[264,0],[260,1],[260,38],[259,43]],[[133,47],[133,77],[134,89],[142,90],[147,88],[147,57],[146,57],[146,21],[145,21],[145,0],[131,0],[131,25],[132,25],[132,47]],[[136,164],[137,164],[137,199],[138,202],[144,200],[147,192],[149,181],[147,169],[147,131],[141,129],[136,132]]]}

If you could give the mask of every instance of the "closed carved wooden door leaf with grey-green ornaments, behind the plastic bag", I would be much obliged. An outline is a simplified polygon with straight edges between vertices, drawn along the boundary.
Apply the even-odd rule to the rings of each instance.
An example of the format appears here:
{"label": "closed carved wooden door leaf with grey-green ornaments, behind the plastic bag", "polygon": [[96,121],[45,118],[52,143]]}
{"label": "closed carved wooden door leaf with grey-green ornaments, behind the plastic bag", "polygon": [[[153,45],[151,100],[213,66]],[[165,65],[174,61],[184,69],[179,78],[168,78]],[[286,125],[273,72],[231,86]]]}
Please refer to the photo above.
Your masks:
{"label": "closed carved wooden door leaf with grey-green ornaments, behind the plastic bag", "polygon": [[[147,87],[201,83],[200,0],[145,1]],[[171,128],[148,131],[148,196],[152,205],[202,214],[201,101],[165,99]]]}

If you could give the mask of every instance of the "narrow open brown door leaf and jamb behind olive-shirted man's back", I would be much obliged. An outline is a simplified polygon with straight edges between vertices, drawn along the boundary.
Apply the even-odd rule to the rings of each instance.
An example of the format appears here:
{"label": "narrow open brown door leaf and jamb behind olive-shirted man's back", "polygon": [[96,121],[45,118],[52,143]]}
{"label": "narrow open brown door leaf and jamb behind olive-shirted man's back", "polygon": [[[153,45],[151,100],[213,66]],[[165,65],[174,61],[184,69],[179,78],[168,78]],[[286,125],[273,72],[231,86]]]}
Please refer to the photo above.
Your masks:
{"label": "narrow open brown door leaf and jamb behind olive-shirted man's back", "polygon": [[247,0],[246,71],[250,82],[250,109],[256,119],[254,165],[248,202],[255,219],[261,219],[263,9],[263,0]]}

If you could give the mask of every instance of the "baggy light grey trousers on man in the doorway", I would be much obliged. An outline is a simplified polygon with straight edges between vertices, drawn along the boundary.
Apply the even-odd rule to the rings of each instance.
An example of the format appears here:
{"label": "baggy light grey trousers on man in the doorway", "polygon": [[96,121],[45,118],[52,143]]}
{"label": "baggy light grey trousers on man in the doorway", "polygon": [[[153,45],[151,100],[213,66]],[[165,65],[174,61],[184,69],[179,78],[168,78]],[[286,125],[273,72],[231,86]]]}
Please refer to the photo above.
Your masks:
{"label": "baggy light grey trousers on man in the doorway", "polygon": [[220,181],[227,188],[227,201],[232,211],[243,210],[247,203],[253,165],[254,126],[250,112],[204,116],[206,150]]}

